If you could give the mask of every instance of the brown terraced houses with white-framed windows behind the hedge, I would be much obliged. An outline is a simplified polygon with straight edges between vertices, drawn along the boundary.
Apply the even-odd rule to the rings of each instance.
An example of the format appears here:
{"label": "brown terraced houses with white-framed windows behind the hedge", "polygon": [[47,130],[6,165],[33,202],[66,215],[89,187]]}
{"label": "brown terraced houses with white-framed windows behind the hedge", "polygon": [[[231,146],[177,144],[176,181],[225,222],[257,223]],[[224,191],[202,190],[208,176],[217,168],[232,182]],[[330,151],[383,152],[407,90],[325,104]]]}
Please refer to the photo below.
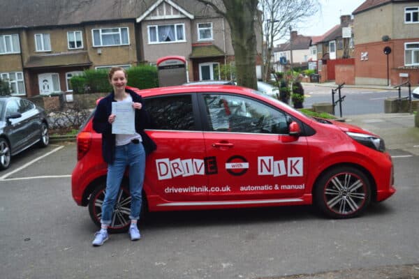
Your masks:
{"label": "brown terraced houses with white-framed windows behind the hedge", "polygon": [[83,70],[166,55],[185,56],[189,80],[214,80],[234,60],[228,22],[196,0],[2,0],[1,10],[0,77],[13,95],[71,92]]}

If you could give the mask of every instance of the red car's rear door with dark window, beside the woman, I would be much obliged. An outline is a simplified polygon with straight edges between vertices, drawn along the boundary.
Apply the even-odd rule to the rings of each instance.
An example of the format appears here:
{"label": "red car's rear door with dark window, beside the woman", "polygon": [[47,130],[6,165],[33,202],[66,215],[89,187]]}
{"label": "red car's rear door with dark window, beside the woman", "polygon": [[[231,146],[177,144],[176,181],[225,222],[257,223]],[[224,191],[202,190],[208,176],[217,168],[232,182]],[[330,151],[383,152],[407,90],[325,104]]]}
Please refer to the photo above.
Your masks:
{"label": "red car's rear door with dark window, beside the woman", "polygon": [[152,193],[147,198],[160,202],[207,199],[208,162],[198,107],[193,103],[196,94],[189,93],[145,98],[155,122],[147,133],[157,144],[147,158],[145,187]]}

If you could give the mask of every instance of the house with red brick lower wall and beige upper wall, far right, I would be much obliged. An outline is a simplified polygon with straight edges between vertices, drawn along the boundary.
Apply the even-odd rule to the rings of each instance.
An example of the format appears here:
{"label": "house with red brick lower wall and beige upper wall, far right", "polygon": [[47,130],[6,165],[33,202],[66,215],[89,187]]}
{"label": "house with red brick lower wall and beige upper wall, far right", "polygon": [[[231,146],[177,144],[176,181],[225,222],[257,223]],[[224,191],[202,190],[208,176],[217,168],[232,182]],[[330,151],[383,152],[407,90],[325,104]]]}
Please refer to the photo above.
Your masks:
{"label": "house with red brick lower wall and beige upper wall, far right", "polygon": [[419,84],[419,1],[367,0],[353,15],[355,84]]}

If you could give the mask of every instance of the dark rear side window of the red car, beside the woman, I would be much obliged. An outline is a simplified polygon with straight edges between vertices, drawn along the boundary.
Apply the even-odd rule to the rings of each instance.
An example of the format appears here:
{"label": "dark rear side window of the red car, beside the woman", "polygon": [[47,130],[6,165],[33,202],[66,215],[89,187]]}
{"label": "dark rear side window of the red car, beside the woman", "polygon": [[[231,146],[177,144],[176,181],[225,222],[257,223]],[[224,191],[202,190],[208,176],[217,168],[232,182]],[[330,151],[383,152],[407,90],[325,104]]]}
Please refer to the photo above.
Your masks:
{"label": "dark rear side window of the red car, beside the woman", "polygon": [[145,107],[158,130],[196,130],[191,95],[149,97]]}

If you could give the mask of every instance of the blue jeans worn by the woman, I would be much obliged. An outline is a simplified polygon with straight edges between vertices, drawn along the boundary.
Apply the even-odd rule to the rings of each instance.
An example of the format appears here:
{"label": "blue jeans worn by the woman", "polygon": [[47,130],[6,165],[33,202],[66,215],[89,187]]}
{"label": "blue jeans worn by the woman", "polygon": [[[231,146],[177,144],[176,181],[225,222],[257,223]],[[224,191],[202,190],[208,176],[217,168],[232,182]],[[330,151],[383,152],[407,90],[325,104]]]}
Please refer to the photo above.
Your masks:
{"label": "blue jeans worn by the woman", "polygon": [[115,160],[108,164],[106,179],[106,193],[102,204],[101,223],[112,223],[112,212],[115,206],[119,188],[126,167],[129,166],[129,191],[131,193],[131,220],[140,218],[142,203],[142,183],[145,173],[145,151],[142,143],[130,142],[122,146],[115,146]]}

